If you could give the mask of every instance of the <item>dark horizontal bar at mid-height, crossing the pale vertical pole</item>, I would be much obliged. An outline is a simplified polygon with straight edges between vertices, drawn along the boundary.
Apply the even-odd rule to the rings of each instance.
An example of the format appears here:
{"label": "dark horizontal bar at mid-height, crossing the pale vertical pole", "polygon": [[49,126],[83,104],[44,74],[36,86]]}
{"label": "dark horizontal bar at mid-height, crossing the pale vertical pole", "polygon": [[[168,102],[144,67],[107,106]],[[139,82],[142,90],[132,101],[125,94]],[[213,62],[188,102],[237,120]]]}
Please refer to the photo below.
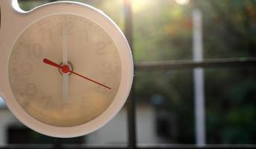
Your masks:
{"label": "dark horizontal bar at mid-height, crossing the pale vertical pole", "polygon": [[231,59],[210,59],[196,62],[193,60],[178,61],[157,61],[157,62],[139,62],[135,69],[194,69],[196,67],[229,67],[229,66],[256,66],[256,57],[252,58],[231,58]]}

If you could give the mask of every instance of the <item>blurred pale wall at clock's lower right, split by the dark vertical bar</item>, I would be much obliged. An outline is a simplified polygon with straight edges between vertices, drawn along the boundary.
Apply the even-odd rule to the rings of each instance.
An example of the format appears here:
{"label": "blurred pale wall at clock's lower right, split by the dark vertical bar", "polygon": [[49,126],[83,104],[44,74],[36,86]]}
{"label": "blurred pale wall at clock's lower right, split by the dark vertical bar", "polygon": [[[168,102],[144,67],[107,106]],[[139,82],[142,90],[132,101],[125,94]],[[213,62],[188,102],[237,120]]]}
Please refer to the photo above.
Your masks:
{"label": "blurred pale wall at clock's lower right, split by the dark vertical bar", "polygon": [[[155,114],[149,105],[137,106],[137,143],[157,144],[164,142],[155,134]],[[115,118],[100,130],[87,136],[89,144],[125,144],[128,142],[127,112],[123,108]]]}

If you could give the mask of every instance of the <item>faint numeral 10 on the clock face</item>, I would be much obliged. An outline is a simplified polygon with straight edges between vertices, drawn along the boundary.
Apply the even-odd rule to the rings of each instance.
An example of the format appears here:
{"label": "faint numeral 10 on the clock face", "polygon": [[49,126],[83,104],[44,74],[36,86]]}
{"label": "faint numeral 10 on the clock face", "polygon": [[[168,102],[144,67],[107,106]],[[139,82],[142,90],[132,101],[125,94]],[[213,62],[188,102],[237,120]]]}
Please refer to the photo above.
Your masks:
{"label": "faint numeral 10 on the clock face", "polygon": [[32,46],[25,45],[25,48],[27,48],[27,55],[28,58],[31,57],[43,57],[43,48],[42,45],[39,43],[36,43]]}

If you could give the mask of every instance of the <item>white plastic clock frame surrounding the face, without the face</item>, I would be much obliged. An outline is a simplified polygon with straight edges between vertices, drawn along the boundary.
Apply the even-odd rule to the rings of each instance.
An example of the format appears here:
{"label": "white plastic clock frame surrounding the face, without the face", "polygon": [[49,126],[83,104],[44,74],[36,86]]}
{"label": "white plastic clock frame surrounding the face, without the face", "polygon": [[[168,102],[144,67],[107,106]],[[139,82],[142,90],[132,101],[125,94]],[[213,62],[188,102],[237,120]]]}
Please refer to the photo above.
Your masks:
{"label": "white plastic clock frame surrounding the face, without the face", "polygon": [[[1,0],[1,30],[0,30],[0,95],[4,98],[9,110],[23,124],[39,133],[60,138],[83,136],[98,130],[110,121],[125,104],[134,77],[134,64],[131,49],[119,27],[102,11],[87,4],[73,1],[57,1],[43,4],[25,12],[19,8],[17,0]],[[46,16],[59,13],[72,13],[83,16],[95,22],[109,34],[116,44],[122,63],[122,77],[116,97],[107,109],[97,118],[85,124],[74,127],[56,127],[45,124],[29,115],[19,105],[10,87],[8,66],[10,53],[19,35],[33,22]]]}

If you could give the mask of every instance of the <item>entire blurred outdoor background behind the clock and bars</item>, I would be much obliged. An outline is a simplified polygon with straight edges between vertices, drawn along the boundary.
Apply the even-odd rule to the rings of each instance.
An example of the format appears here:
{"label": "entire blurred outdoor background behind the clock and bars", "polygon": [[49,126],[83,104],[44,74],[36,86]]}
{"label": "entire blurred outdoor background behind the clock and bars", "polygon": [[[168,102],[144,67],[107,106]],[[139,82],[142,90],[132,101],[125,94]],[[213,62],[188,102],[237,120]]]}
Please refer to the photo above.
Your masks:
{"label": "entire blurred outdoor background behind the clock and bars", "polygon": [[[19,0],[31,10],[47,0]],[[99,8],[124,31],[123,0],[80,0]],[[202,15],[204,60],[256,57],[255,0],[131,0],[135,65],[144,62],[193,60],[193,12]],[[256,144],[256,67],[204,68],[205,143]],[[136,69],[137,143],[196,144],[195,80],[193,69]],[[20,124],[0,108],[0,145],[52,143]],[[127,109],[87,136],[62,143],[128,143]]]}

